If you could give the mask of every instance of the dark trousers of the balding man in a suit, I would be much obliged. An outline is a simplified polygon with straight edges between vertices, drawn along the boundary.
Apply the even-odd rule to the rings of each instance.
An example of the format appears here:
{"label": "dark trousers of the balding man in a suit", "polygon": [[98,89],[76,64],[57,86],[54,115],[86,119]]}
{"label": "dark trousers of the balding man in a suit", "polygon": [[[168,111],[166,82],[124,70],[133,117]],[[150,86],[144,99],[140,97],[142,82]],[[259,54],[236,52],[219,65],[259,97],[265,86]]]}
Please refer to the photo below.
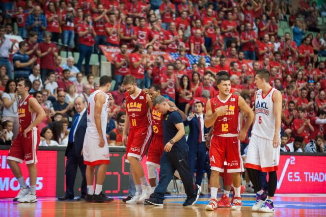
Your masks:
{"label": "dark trousers of the balding man in a suit", "polygon": [[68,151],[66,162],[66,195],[68,197],[74,197],[73,188],[75,185],[77,167],[79,167],[83,177],[82,186],[80,186],[82,195],[87,195],[86,165],[84,165],[84,158],[83,156],[76,156],[74,149],[71,148]]}

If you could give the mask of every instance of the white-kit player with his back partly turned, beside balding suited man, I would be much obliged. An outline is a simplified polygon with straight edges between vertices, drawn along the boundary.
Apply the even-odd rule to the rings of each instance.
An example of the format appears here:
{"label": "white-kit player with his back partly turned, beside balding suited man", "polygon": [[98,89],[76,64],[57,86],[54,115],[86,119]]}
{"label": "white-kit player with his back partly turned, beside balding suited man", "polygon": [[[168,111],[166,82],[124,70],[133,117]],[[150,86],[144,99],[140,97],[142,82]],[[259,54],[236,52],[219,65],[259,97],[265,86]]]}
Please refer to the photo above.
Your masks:
{"label": "white-kit player with his back partly turned, beside balding suited man", "polygon": [[[110,91],[111,82],[111,76],[101,76],[99,89],[94,91],[88,100],[87,129],[83,145],[84,164],[87,165],[86,202],[104,202],[102,185],[106,175],[106,167],[110,164],[105,132],[108,103],[112,98],[106,93]],[[98,169],[94,194],[93,180],[96,166]]]}

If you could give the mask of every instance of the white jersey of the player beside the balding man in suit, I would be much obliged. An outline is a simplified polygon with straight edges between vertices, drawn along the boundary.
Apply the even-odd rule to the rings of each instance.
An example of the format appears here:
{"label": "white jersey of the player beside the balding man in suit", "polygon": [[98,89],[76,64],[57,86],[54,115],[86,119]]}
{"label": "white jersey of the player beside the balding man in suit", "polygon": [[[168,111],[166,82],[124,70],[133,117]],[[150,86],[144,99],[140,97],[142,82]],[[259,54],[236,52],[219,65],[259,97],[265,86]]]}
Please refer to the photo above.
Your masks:
{"label": "white jersey of the player beside the balding man in suit", "polygon": [[86,133],[90,135],[90,137],[93,138],[99,138],[98,131],[95,125],[95,95],[99,94],[104,94],[105,96],[105,103],[102,106],[102,113],[101,113],[101,129],[102,129],[102,134],[104,141],[106,141],[106,124],[107,124],[107,109],[108,109],[108,101],[109,97],[107,94],[105,94],[101,90],[94,91],[88,100],[88,108],[87,108],[87,129]]}

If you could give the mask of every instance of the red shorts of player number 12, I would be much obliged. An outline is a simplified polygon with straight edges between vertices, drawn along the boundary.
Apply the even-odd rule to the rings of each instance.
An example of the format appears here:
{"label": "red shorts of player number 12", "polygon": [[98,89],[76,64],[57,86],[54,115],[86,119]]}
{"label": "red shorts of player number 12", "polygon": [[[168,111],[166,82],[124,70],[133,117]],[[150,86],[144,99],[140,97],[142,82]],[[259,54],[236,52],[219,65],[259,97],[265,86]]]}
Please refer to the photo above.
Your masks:
{"label": "red shorts of player number 12", "polygon": [[240,141],[237,137],[219,137],[213,135],[209,149],[210,169],[224,172],[224,161],[228,173],[243,172],[240,154]]}

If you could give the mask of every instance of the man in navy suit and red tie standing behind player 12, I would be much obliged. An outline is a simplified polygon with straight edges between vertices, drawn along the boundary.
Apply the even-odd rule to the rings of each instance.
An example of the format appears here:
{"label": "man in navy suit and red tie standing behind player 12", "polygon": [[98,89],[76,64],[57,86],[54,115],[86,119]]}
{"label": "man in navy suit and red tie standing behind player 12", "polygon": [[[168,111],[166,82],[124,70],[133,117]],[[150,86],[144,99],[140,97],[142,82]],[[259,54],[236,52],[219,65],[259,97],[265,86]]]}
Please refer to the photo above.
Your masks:
{"label": "man in navy suit and red tie standing behind player 12", "polygon": [[209,128],[205,127],[203,114],[204,104],[202,102],[195,103],[195,113],[188,116],[184,122],[184,126],[190,128],[187,144],[189,146],[189,167],[194,178],[195,168],[196,184],[201,185],[203,179],[203,169],[206,161],[206,145],[205,136],[209,132]]}

